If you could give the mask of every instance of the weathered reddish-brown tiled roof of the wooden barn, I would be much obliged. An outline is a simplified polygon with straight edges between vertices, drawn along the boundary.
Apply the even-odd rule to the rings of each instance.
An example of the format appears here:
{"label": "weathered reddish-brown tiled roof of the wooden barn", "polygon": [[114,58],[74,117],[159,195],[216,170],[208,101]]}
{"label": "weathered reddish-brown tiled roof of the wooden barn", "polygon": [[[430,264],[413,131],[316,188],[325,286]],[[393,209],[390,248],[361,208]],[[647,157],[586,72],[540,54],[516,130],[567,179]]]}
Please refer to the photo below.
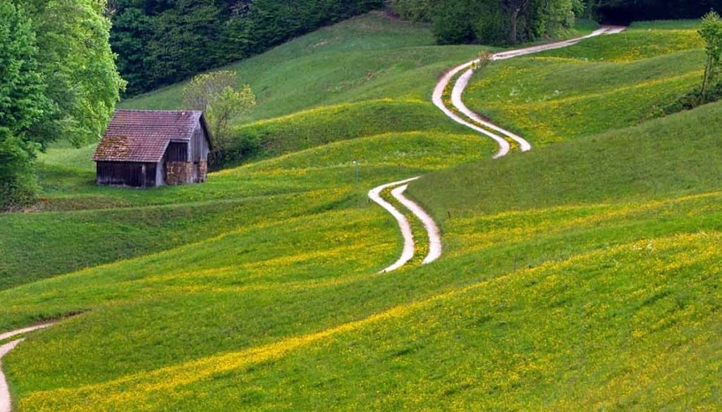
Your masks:
{"label": "weathered reddish-brown tiled roof of the wooden barn", "polygon": [[170,141],[190,141],[201,123],[210,141],[203,113],[195,110],[116,110],[95,162],[160,162]]}

